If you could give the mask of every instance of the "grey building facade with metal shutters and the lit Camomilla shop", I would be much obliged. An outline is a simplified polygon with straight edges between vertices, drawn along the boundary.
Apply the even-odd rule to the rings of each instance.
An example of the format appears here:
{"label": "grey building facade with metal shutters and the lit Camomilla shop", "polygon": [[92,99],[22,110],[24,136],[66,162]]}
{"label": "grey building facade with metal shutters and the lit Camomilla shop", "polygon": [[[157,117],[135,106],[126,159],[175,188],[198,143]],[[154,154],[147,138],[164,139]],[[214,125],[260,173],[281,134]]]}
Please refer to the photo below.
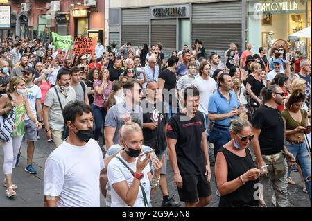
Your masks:
{"label": "grey building facade with metal shutters and the lit Camomilla shop", "polygon": [[[290,8],[293,2],[297,9]],[[266,7],[269,4],[273,8]],[[275,10],[276,5],[281,8]],[[107,0],[105,8],[105,44],[131,42],[140,47],[161,43],[167,55],[181,50],[183,44],[191,48],[196,39],[202,41],[207,55],[223,56],[231,42],[241,50],[250,42],[258,53],[260,46],[266,46],[263,36],[270,30],[287,42],[293,31],[311,26],[311,0]],[[272,20],[265,22],[270,17],[267,14]],[[298,41],[304,41],[304,50],[311,48],[311,39],[295,39],[289,42],[293,44],[290,48],[298,47]]]}

